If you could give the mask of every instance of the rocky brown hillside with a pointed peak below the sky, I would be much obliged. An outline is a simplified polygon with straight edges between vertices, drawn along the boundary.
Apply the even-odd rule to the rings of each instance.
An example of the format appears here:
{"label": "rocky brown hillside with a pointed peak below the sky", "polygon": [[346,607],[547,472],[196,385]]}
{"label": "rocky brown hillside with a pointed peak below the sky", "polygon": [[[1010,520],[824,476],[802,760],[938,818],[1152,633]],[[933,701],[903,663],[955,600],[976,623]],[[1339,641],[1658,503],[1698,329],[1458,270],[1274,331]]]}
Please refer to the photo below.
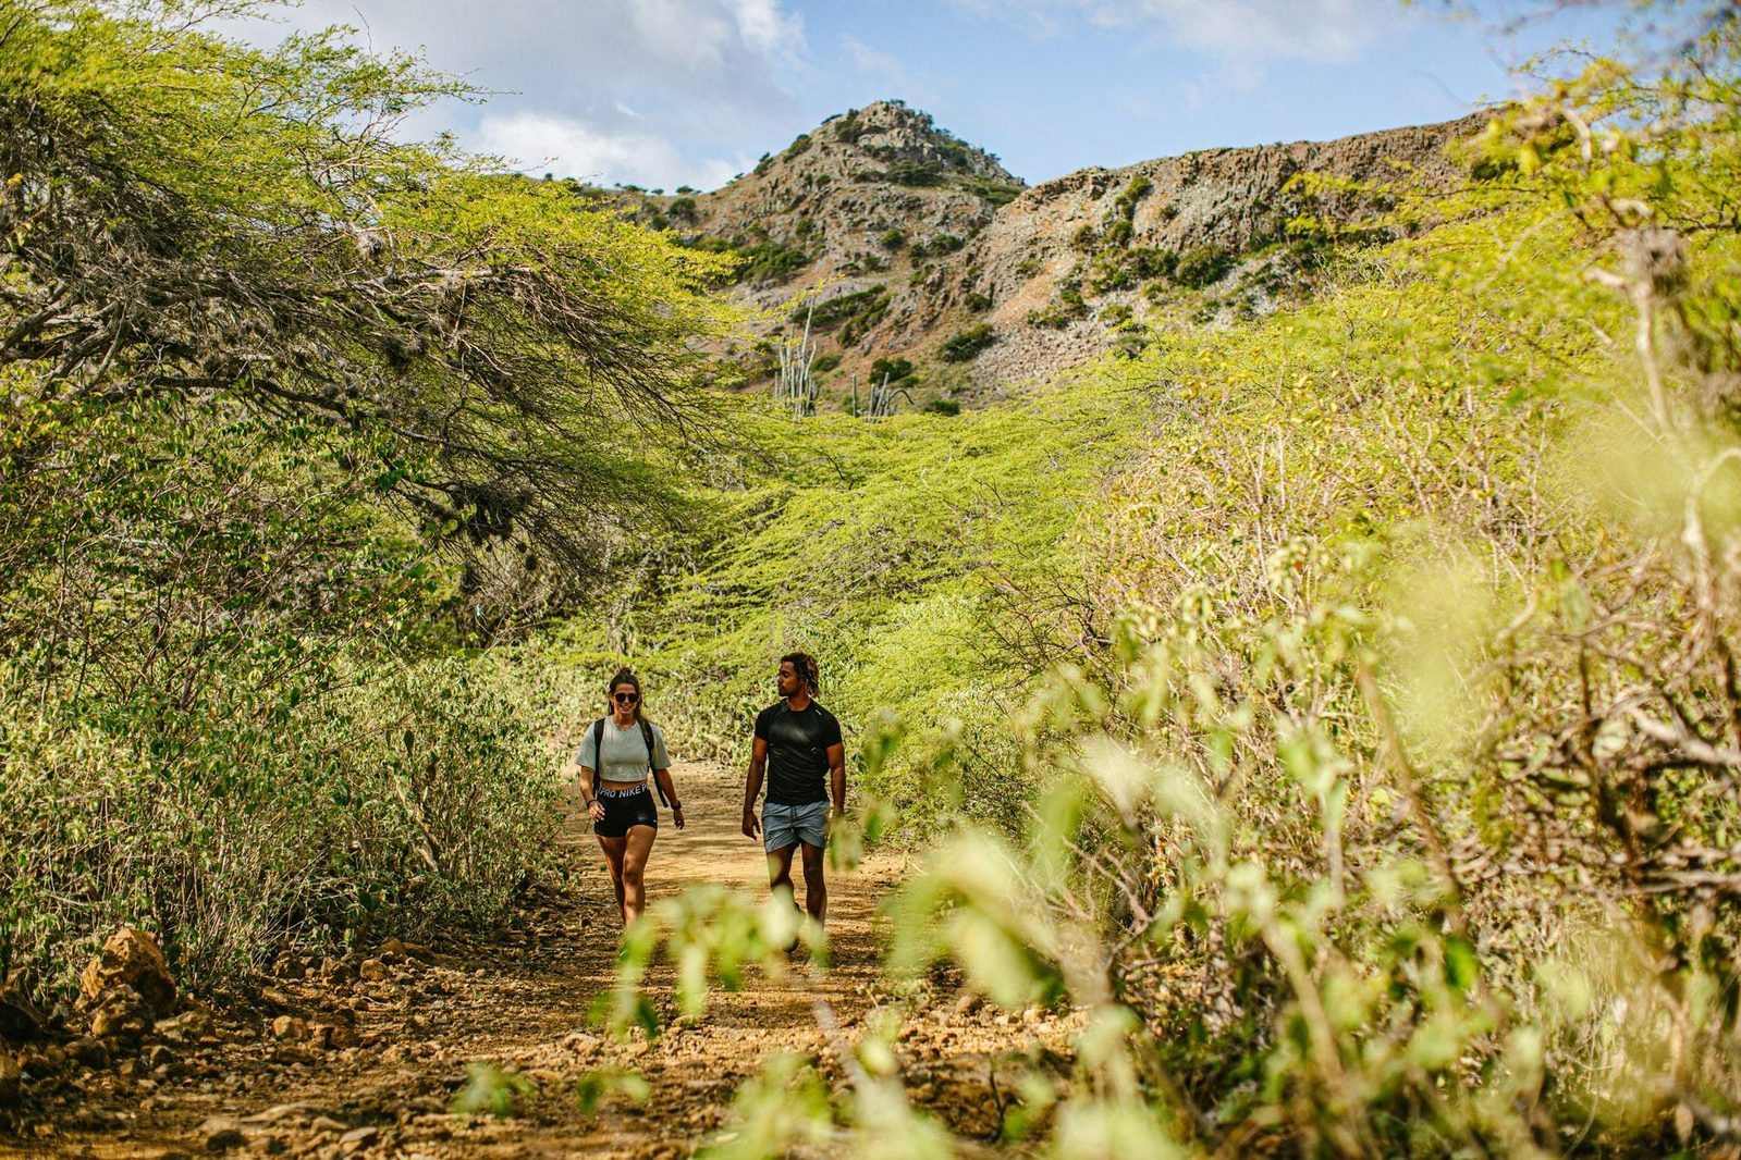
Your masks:
{"label": "rocky brown hillside with a pointed peak below the sky", "polygon": [[886,370],[911,376],[919,402],[971,403],[1140,344],[1163,318],[1207,323],[1309,292],[1323,238],[1290,221],[1348,221],[1370,200],[1311,195],[1295,176],[1450,181],[1447,143],[1478,127],[1207,150],[1025,188],[928,115],[881,101],[716,193],[634,193],[642,219],[745,256],[733,294],[770,311],[752,381],[808,317],[823,405]]}

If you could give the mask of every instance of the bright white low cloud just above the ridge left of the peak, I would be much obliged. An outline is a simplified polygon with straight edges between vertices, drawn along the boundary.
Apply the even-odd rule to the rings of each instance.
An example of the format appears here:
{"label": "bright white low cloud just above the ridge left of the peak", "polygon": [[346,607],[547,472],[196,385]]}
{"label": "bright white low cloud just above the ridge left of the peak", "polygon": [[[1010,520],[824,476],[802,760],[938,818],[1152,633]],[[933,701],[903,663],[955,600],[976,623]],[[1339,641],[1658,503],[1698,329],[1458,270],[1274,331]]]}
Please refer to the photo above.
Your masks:
{"label": "bright white low cloud just above the ridge left of the peak", "polygon": [[528,174],[581,181],[616,181],[651,190],[724,184],[743,165],[695,158],[651,132],[606,130],[552,113],[487,115],[477,125],[479,148]]}

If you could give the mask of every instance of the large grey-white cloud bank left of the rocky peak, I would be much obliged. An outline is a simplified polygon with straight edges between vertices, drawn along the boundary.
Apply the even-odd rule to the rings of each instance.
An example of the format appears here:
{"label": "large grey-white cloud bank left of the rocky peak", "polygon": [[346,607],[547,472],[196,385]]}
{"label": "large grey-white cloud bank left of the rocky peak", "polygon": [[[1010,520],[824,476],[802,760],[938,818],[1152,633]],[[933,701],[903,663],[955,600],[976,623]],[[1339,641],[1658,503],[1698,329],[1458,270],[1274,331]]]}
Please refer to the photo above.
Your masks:
{"label": "large grey-white cloud bank left of the rocky peak", "polygon": [[[286,28],[357,24],[385,50],[421,49],[489,90],[479,106],[420,115],[416,134],[519,160],[528,172],[710,188],[790,132],[789,78],[806,66],[797,0],[303,0],[280,21],[240,21],[266,42]],[[656,127],[655,132],[649,129]]]}

